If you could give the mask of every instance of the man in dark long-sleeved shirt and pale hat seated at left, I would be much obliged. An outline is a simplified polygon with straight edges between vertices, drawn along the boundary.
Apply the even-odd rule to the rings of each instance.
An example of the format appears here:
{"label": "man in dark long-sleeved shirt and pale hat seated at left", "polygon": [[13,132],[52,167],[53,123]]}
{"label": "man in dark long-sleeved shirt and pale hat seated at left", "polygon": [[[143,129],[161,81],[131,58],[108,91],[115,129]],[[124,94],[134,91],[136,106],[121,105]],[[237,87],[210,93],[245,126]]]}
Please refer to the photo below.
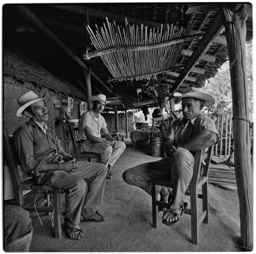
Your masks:
{"label": "man in dark long-sleeved shirt and pale hat seated at left", "polygon": [[[20,164],[38,184],[49,184],[66,192],[66,232],[72,240],[83,236],[80,222],[104,221],[98,213],[107,168],[103,164],[77,162],[60,145],[56,132],[46,125],[49,112],[43,97],[29,91],[18,98],[17,116],[29,121],[14,132]],[[88,182],[84,181],[88,180]]]}

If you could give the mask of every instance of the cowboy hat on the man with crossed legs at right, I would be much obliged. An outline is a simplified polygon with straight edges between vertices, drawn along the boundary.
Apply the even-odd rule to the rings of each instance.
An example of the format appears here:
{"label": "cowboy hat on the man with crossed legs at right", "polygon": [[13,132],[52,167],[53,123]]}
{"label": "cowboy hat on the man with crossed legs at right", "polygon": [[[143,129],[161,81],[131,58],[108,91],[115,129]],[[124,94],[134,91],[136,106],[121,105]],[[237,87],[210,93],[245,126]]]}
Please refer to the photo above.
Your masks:
{"label": "cowboy hat on the man with crossed legs at right", "polygon": [[174,93],[174,96],[180,99],[186,98],[186,97],[192,97],[192,98],[204,100],[204,107],[208,107],[215,104],[215,99],[213,97],[204,93],[202,89],[196,88],[196,87],[185,88],[183,90],[183,94],[176,92]]}

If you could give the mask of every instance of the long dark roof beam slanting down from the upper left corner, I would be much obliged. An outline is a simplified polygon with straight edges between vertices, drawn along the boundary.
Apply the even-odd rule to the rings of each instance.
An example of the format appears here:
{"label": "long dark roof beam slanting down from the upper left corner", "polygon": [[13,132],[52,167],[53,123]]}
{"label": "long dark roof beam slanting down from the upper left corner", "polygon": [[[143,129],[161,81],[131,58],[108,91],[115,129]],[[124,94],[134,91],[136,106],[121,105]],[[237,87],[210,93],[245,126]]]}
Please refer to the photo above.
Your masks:
{"label": "long dark roof beam slanting down from the upper left corner", "polygon": [[[31,21],[34,26],[36,26],[42,33],[44,33],[51,41],[53,41],[60,49],[63,50],[68,56],[70,56],[76,63],[78,63],[83,69],[88,70],[88,67],[84,62],[81,61],[79,57],[77,57],[72,50],[67,47],[49,28],[45,26],[45,24],[34,15],[26,6],[14,6],[14,8],[24,15],[29,21]],[[91,72],[92,76],[109,92],[113,93],[113,91],[106,86],[95,73]]]}

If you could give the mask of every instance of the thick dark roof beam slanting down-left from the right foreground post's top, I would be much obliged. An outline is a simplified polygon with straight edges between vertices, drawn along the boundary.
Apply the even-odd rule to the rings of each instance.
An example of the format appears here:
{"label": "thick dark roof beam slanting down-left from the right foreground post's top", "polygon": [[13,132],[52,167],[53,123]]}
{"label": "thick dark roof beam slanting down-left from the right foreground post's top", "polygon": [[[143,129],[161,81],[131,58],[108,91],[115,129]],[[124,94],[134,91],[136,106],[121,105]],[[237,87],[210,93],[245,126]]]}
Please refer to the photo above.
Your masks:
{"label": "thick dark roof beam slanting down-left from the right foreground post's top", "polygon": [[[177,78],[176,82],[174,83],[174,86],[173,86],[174,91],[186,79],[188,73],[193,70],[193,68],[196,66],[198,61],[202,58],[202,56],[205,55],[205,53],[207,52],[212,42],[214,42],[215,38],[220,34],[223,28],[224,26],[221,20],[221,16],[220,16],[220,13],[218,12],[214,20],[212,20],[204,36],[202,37],[200,43],[198,44],[193,54],[191,55],[187,65],[184,67],[179,77]],[[209,62],[209,60],[206,62]]]}

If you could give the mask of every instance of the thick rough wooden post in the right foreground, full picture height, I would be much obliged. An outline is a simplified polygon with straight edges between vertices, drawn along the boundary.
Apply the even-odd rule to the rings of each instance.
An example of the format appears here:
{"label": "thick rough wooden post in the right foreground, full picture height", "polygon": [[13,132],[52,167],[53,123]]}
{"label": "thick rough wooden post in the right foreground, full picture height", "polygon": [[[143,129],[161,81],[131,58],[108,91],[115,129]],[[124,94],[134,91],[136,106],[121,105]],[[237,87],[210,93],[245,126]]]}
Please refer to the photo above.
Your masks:
{"label": "thick rough wooden post in the right foreground, full picture height", "polygon": [[234,168],[240,204],[242,246],[253,249],[253,176],[250,154],[249,106],[246,77],[246,19],[243,4],[234,13],[222,6],[222,20],[228,45],[233,101]]}

